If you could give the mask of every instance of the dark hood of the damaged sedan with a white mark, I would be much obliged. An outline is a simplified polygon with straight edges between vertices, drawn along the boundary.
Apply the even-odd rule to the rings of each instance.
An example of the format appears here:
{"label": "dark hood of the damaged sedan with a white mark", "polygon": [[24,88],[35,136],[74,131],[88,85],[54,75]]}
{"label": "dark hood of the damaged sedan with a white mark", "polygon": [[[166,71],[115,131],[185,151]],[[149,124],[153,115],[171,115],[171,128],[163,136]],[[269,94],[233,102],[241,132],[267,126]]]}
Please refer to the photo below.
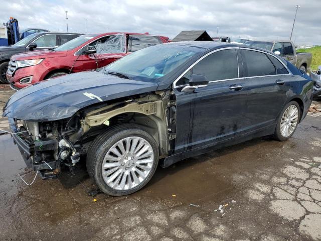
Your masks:
{"label": "dark hood of the damaged sedan with a white mark", "polygon": [[103,101],[157,89],[157,83],[123,79],[102,71],[69,74],[42,81],[16,92],[3,116],[25,121],[56,121]]}

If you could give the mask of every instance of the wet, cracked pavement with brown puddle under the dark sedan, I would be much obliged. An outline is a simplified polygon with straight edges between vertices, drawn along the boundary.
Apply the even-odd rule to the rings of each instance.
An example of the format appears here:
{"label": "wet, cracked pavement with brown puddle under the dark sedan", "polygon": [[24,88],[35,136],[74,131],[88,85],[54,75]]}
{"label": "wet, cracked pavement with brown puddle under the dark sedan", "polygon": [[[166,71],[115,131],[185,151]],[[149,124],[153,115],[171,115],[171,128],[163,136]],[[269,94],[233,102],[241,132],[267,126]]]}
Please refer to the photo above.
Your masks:
{"label": "wet, cracked pavement with brown puddle under the dark sedan", "polygon": [[0,147],[0,240],[321,240],[320,112],[286,142],[261,138],[159,167],[124,197],[89,196],[84,167],[27,186],[18,174],[31,183],[36,173],[10,135]]}

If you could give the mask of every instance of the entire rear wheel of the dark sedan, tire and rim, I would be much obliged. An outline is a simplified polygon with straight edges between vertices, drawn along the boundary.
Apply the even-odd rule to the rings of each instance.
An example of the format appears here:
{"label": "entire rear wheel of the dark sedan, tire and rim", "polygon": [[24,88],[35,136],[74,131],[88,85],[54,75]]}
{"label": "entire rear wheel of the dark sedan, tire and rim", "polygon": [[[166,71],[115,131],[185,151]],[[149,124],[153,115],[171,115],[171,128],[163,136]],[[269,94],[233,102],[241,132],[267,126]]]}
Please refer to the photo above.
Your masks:
{"label": "entire rear wheel of the dark sedan, tire and rim", "polygon": [[277,118],[277,125],[274,132],[274,139],[277,141],[288,140],[295,132],[298,126],[300,117],[301,117],[301,109],[299,104],[296,101],[290,101],[289,103],[287,103],[282,109],[279,117]]}

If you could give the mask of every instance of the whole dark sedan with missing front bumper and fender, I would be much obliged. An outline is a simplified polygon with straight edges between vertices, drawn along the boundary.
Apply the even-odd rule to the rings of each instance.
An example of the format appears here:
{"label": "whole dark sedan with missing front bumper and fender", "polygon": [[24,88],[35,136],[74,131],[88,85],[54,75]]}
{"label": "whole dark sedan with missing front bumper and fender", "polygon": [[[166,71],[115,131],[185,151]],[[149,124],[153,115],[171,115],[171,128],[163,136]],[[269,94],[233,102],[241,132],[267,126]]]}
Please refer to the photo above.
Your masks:
{"label": "whole dark sedan with missing front bumper and fender", "polygon": [[177,42],[22,89],[3,116],[42,178],[86,160],[97,186],[120,196],[142,188],[158,162],[168,167],[261,136],[287,140],[312,88],[309,76],[269,51]]}

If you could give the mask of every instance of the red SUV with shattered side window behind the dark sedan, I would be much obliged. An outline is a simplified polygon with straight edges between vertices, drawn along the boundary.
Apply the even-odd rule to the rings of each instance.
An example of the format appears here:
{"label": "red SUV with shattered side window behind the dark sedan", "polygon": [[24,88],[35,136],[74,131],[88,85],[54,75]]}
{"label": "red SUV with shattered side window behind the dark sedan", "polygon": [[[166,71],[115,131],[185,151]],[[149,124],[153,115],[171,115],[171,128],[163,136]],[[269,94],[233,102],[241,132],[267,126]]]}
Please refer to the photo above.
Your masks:
{"label": "red SUV with shattered side window behind the dark sedan", "polygon": [[131,52],[167,42],[167,37],[149,34],[86,34],[53,50],[12,56],[7,79],[18,90],[44,79],[97,69]]}

